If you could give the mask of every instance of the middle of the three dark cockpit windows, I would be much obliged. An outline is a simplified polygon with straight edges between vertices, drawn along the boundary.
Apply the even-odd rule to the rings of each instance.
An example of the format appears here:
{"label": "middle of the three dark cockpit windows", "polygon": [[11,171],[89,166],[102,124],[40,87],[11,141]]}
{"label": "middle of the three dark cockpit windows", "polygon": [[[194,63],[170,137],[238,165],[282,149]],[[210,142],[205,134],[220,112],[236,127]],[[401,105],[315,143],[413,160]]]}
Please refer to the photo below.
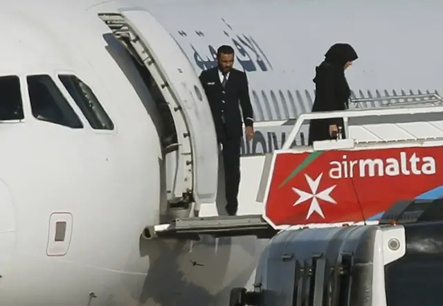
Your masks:
{"label": "middle of the three dark cockpit windows", "polygon": [[27,80],[30,107],[35,118],[73,129],[83,127],[80,118],[49,75],[29,75]]}

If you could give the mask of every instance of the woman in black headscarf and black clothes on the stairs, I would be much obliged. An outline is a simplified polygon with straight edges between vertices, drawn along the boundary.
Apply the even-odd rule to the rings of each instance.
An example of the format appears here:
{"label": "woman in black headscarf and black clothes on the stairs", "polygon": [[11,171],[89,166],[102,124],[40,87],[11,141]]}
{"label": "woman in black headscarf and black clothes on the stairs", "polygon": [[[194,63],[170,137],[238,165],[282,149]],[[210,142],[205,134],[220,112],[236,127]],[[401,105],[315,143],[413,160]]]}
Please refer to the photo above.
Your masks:
{"label": "woman in black headscarf and black clothes on the stairs", "polygon": [[[334,44],[325,54],[325,60],[316,67],[316,98],[312,111],[341,111],[347,109],[351,91],[345,78],[345,69],[359,58],[350,44]],[[308,144],[336,138],[343,118],[311,120]],[[345,138],[344,129],[341,130]]]}

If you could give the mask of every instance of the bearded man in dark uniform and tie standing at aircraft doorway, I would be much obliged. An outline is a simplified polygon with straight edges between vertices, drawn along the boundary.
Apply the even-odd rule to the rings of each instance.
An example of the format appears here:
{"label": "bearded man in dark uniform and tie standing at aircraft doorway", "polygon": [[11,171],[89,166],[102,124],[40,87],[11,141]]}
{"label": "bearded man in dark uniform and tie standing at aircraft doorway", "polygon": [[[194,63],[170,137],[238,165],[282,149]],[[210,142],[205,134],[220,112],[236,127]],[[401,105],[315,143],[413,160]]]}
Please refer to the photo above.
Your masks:
{"label": "bearded man in dark uniform and tie standing at aircraft doorway", "polygon": [[221,143],[228,202],[226,212],[228,215],[235,215],[240,183],[242,115],[246,137],[252,139],[253,109],[246,73],[233,69],[234,49],[230,46],[220,46],[217,50],[217,63],[216,67],[203,71],[199,78],[213,113],[217,141]]}

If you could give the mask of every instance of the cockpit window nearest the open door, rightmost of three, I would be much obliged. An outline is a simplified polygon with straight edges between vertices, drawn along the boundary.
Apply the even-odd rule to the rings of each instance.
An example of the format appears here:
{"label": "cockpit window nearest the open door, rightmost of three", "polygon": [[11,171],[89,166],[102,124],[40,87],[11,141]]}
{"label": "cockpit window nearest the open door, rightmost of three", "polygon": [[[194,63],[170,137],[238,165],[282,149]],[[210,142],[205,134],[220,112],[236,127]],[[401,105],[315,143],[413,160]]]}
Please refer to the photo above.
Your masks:
{"label": "cockpit window nearest the open door, rightmost of three", "polygon": [[59,75],[59,78],[93,129],[114,129],[114,123],[87,84],[75,75]]}

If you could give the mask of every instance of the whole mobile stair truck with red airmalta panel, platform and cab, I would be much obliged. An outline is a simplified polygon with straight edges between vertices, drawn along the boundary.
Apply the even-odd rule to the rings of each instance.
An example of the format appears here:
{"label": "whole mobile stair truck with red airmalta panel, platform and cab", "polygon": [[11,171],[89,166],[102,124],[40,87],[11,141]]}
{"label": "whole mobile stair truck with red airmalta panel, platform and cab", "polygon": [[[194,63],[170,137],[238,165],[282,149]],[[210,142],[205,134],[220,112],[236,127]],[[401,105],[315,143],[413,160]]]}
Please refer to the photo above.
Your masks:
{"label": "whole mobile stair truck with red airmalta panel, platform and cab", "polygon": [[[253,288],[233,288],[229,306],[440,303],[443,99],[428,93],[351,102],[345,111],[302,114],[282,149],[266,156],[262,215],[154,227],[156,237],[271,238]],[[337,117],[346,138],[292,147],[305,121]]]}

